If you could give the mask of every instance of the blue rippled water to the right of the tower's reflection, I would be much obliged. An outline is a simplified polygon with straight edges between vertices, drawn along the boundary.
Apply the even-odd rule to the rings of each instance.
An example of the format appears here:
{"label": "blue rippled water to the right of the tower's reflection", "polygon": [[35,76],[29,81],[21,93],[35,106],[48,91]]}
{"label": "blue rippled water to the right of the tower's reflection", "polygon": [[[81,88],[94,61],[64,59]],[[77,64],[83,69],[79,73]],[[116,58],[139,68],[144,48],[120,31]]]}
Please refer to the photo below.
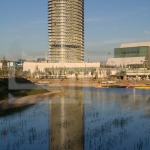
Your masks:
{"label": "blue rippled water to the right of the tower's reflection", "polygon": [[92,103],[84,105],[84,149],[150,149],[150,120],[141,119],[150,110],[148,91],[96,89],[92,94]]}

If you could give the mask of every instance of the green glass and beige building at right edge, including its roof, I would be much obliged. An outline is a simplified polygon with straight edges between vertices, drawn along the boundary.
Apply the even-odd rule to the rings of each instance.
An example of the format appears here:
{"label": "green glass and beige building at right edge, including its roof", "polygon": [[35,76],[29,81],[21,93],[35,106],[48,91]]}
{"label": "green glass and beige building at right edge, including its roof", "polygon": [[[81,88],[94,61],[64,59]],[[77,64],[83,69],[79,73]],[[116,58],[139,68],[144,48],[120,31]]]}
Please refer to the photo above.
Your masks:
{"label": "green glass and beige building at right edge, including its roof", "polygon": [[114,58],[109,58],[107,66],[145,65],[150,67],[150,42],[121,44],[114,49]]}

